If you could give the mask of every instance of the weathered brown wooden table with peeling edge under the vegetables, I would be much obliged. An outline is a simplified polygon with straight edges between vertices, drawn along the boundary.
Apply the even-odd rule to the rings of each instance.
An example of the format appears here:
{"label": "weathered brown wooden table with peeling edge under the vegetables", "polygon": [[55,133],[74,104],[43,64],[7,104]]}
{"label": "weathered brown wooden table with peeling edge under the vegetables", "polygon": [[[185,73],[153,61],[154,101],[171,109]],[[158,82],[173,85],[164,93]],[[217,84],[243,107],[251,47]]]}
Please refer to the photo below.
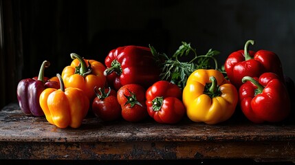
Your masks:
{"label": "weathered brown wooden table with peeling edge under the vegetables", "polygon": [[208,125],[102,122],[58,129],[25,115],[17,104],[0,111],[0,159],[215,159],[295,161],[295,124],[228,121]]}

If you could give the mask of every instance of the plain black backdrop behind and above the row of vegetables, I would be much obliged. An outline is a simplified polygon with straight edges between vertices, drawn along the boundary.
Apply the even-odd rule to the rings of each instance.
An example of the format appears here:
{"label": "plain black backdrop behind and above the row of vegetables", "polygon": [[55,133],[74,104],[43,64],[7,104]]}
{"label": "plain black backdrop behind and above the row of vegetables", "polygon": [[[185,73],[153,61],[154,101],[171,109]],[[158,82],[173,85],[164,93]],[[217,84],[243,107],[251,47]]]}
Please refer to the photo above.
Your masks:
{"label": "plain black backdrop behind and above the row of vegetables", "polygon": [[75,52],[103,63],[124,45],[153,45],[173,54],[182,41],[198,54],[212,48],[226,57],[256,41],[251,50],[278,54],[295,79],[295,1],[292,0],[1,0],[1,108],[16,101],[19,80],[39,73],[44,60],[55,76]]}

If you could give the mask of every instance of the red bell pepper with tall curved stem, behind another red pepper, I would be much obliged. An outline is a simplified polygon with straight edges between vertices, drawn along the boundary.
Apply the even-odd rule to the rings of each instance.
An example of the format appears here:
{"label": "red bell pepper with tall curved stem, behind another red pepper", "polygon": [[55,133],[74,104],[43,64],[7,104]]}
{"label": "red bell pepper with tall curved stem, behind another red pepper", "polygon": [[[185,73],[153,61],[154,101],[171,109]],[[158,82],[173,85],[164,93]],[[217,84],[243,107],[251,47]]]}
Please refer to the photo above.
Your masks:
{"label": "red bell pepper with tall curved stem, behind another red pepper", "polygon": [[226,59],[224,67],[230,83],[239,89],[244,76],[259,77],[264,72],[273,72],[283,80],[283,68],[278,56],[268,50],[248,51],[250,44],[254,45],[254,41],[247,41],[244,50],[232,52]]}

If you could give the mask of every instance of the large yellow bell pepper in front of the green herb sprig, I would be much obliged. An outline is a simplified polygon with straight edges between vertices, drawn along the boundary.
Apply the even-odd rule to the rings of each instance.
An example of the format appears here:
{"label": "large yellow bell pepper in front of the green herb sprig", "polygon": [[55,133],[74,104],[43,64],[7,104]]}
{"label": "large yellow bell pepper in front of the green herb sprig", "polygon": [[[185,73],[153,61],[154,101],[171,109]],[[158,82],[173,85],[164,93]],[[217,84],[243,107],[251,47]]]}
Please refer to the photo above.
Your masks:
{"label": "large yellow bell pepper in front of the green herb sprig", "polygon": [[197,69],[188,77],[182,94],[186,114],[193,122],[217,124],[234,113],[237,88],[215,69]]}

